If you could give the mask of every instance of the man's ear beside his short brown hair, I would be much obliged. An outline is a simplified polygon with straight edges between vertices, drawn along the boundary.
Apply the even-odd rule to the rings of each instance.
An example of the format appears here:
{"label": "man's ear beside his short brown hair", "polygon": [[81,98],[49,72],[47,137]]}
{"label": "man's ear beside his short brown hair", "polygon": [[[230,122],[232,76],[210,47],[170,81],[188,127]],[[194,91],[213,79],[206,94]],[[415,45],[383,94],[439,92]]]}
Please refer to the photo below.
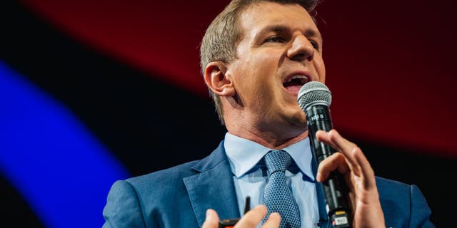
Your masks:
{"label": "man's ear beside his short brown hair", "polygon": [[220,96],[235,95],[235,88],[231,78],[226,76],[227,68],[225,63],[215,61],[208,63],[205,68],[205,83],[213,93]]}

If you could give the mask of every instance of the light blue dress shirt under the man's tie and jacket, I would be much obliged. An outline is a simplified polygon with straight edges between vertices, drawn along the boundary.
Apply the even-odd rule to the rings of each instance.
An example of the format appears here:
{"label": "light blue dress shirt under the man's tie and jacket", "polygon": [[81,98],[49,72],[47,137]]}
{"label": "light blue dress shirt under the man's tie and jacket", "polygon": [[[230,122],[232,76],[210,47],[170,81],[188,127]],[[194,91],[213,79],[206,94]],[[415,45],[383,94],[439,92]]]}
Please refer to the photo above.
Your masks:
{"label": "light blue dress shirt under the man's tie and jacket", "polygon": [[[262,158],[272,149],[256,142],[226,133],[224,147],[229,157],[240,214],[244,213],[246,197],[251,197],[251,208],[262,204],[263,190],[268,179]],[[292,157],[286,171],[286,182],[300,209],[301,227],[318,227],[318,202],[315,178],[311,170],[309,138],[283,148]]]}

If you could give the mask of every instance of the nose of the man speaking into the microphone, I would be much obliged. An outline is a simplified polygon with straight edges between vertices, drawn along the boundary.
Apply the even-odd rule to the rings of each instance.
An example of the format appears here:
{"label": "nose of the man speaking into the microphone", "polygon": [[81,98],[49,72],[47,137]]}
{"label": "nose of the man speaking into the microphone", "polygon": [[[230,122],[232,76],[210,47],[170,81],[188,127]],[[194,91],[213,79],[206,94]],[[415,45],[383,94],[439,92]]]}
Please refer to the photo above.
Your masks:
{"label": "nose of the man speaking into the microphone", "polygon": [[287,51],[287,56],[293,61],[313,60],[314,57],[313,44],[308,41],[303,35],[296,36],[293,39],[291,48]]}

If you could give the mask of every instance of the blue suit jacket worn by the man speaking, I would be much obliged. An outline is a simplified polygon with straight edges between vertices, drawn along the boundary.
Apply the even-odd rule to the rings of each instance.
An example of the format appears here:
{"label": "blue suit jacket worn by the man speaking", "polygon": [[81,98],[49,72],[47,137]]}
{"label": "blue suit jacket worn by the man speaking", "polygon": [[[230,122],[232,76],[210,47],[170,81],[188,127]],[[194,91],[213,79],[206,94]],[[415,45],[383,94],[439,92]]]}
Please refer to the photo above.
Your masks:
{"label": "blue suit jacket worn by the man speaking", "polygon": [[[201,227],[209,208],[221,219],[240,217],[223,145],[203,160],[115,182],[103,211],[103,227]],[[418,187],[381,177],[376,177],[376,185],[386,227],[434,227]],[[316,187],[321,227],[327,227],[321,185]]]}

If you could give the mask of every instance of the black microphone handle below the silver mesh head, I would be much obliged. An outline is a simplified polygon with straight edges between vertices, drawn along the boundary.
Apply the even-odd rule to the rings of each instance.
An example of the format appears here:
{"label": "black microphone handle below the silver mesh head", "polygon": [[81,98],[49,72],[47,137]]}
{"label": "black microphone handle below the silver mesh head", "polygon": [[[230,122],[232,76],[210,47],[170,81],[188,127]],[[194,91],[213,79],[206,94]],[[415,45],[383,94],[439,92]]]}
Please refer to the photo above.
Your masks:
{"label": "black microphone handle below the silver mesh head", "polygon": [[[326,105],[311,105],[306,109],[305,113],[311,151],[319,164],[326,157],[336,152],[333,147],[320,142],[316,138],[316,132],[318,130],[328,132],[333,129],[330,110]],[[343,175],[338,171],[331,172],[328,179],[322,183],[322,188],[326,199],[328,217],[331,218],[333,227],[351,227],[348,187]]]}

